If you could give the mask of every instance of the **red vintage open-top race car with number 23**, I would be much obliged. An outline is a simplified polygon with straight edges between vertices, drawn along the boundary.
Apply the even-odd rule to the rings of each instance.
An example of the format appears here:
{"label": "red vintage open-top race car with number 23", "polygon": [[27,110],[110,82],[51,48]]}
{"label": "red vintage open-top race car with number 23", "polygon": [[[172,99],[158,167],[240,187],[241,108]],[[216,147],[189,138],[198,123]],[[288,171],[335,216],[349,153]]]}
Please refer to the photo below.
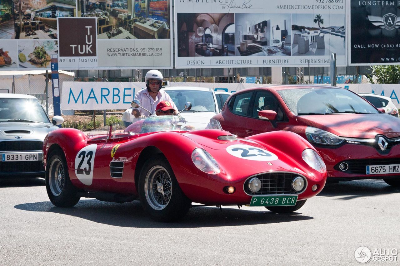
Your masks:
{"label": "red vintage open-top race car with number 23", "polygon": [[50,132],[43,146],[50,201],[70,207],[80,197],[140,199],[152,218],[171,221],[184,216],[192,202],[293,212],[325,185],[320,155],[295,133],[238,138],[220,129],[168,131],[166,119],[173,116],[160,119],[161,127],[153,116],[138,133]]}

